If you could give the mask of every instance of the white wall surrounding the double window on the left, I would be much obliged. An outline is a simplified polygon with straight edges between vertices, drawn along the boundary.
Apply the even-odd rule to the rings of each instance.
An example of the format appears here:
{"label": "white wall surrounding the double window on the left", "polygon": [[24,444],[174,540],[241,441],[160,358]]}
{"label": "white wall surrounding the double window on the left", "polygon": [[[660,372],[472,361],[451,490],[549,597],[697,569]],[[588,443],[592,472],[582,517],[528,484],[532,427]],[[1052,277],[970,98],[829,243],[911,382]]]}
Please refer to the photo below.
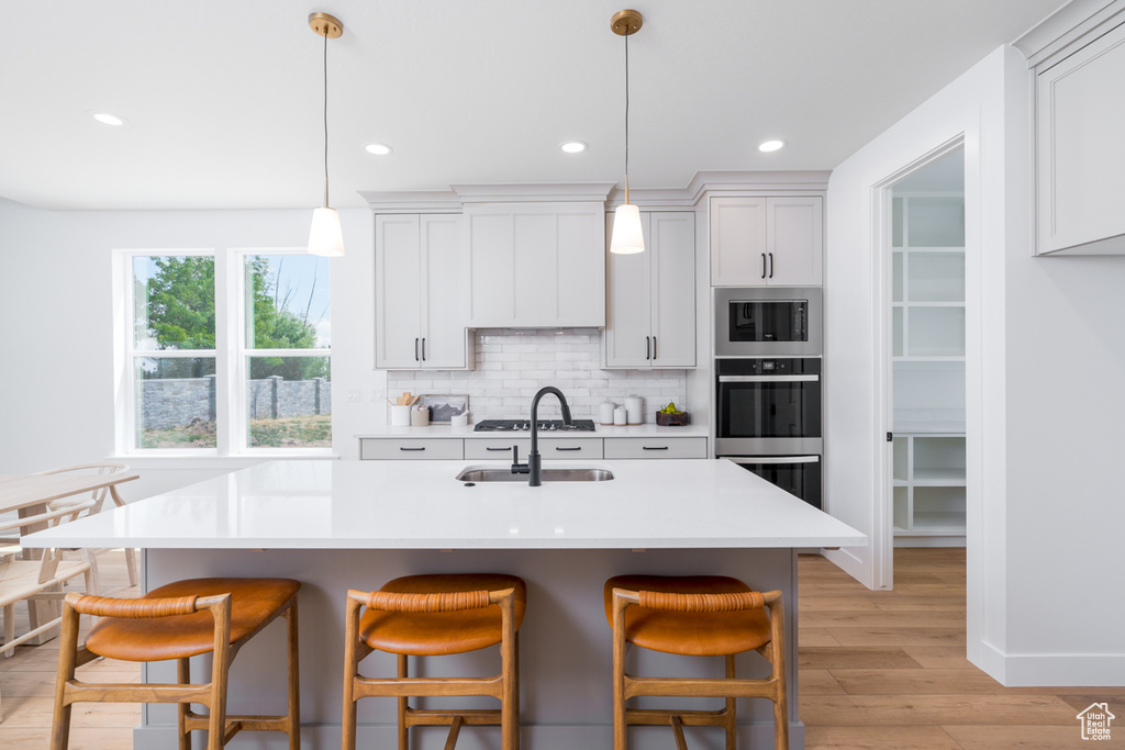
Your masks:
{"label": "white wall surrounding the double window on the left", "polygon": [[[0,199],[0,473],[114,453],[110,257],[114,249],[300,247],[312,211],[40,211]],[[332,262],[333,443],[382,424],[385,376],[374,370],[374,222],[341,211],[349,254]],[[349,390],[361,400],[349,401]],[[253,461],[129,460],[136,499]]]}

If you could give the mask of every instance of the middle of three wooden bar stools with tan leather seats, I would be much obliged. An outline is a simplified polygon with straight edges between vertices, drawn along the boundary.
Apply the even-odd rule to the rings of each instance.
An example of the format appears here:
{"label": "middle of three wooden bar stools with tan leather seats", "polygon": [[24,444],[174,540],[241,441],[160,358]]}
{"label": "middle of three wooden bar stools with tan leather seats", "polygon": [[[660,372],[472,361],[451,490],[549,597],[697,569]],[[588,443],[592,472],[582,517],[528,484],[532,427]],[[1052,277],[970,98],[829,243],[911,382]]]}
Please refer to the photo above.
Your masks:
{"label": "middle of three wooden bar stools with tan leather seats", "polygon": [[[348,591],[344,641],[343,750],[356,748],[356,702],[398,698],[398,749],[410,747],[408,730],[420,724],[449,725],[447,750],[461,726],[501,726],[503,750],[520,746],[519,635],[528,587],[515,576],[450,573],[406,576],[378,591]],[[366,611],[360,616],[360,611]],[[500,644],[501,674],[484,678],[407,676],[406,659],[476,651]],[[375,650],[397,654],[395,678],[368,678],[359,662]],[[501,707],[468,711],[412,708],[412,696],[490,696]]]}

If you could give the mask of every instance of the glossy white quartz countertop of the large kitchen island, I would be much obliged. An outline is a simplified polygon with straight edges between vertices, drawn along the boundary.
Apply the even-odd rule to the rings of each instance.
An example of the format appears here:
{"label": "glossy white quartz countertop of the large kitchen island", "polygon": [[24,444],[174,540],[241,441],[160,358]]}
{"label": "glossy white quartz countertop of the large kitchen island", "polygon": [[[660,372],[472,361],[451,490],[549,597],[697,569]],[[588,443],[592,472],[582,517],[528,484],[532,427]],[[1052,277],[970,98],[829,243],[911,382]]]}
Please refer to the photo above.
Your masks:
{"label": "glossy white quartz countertop of the large kitchen island", "polygon": [[[25,536],[26,546],[698,549],[865,546],[722,460],[594,461],[601,482],[454,480],[474,461],[271,461]],[[551,461],[544,468],[575,466]]]}

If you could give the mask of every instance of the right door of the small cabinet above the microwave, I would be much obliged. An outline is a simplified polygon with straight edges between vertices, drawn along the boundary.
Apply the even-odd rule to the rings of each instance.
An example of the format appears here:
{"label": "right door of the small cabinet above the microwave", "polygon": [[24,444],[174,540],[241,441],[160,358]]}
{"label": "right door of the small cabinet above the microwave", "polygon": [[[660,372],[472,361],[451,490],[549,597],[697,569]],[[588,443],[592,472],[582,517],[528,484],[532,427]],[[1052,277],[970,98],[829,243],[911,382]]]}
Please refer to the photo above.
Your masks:
{"label": "right door of the small cabinet above the microwave", "polygon": [[770,198],[766,201],[766,283],[820,286],[822,224],[818,197]]}

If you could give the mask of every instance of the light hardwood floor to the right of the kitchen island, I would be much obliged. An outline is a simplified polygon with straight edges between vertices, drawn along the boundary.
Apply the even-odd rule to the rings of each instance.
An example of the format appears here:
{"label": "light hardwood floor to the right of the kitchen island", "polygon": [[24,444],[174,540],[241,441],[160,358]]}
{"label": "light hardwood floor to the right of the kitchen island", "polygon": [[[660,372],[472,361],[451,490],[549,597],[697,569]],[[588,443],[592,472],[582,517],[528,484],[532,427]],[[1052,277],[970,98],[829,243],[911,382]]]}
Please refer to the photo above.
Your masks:
{"label": "light hardwood floor to the right of the kitchen island", "polygon": [[1089,748],[1076,717],[1125,687],[1006,688],[965,659],[965,551],[898,549],[894,590],[801,555],[800,706],[809,750]]}

